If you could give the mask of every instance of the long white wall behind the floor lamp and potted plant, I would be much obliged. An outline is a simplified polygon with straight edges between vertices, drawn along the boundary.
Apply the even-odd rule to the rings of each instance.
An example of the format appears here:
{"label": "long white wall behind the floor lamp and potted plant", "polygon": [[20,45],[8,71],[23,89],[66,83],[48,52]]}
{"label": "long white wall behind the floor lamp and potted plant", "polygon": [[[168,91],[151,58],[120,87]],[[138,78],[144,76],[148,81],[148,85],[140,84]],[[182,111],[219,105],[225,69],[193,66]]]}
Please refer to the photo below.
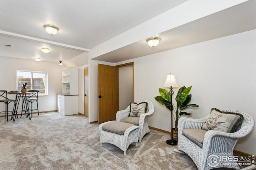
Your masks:
{"label": "long white wall behind the floor lamp and potted plant", "polygon": [[[149,126],[170,131],[170,111],[154,99],[159,96],[166,75],[175,74],[180,86],[192,86],[192,118],[201,118],[210,109],[239,110],[256,120],[256,30],[230,35],[134,60],[134,100],[152,101],[154,114]],[[159,44],[161,45],[161,44]],[[137,89],[140,88],[140,92]],[[174,89],[174,97],[178,89]],[[255,128],[238,140],[236,150],[256,154]]]}

